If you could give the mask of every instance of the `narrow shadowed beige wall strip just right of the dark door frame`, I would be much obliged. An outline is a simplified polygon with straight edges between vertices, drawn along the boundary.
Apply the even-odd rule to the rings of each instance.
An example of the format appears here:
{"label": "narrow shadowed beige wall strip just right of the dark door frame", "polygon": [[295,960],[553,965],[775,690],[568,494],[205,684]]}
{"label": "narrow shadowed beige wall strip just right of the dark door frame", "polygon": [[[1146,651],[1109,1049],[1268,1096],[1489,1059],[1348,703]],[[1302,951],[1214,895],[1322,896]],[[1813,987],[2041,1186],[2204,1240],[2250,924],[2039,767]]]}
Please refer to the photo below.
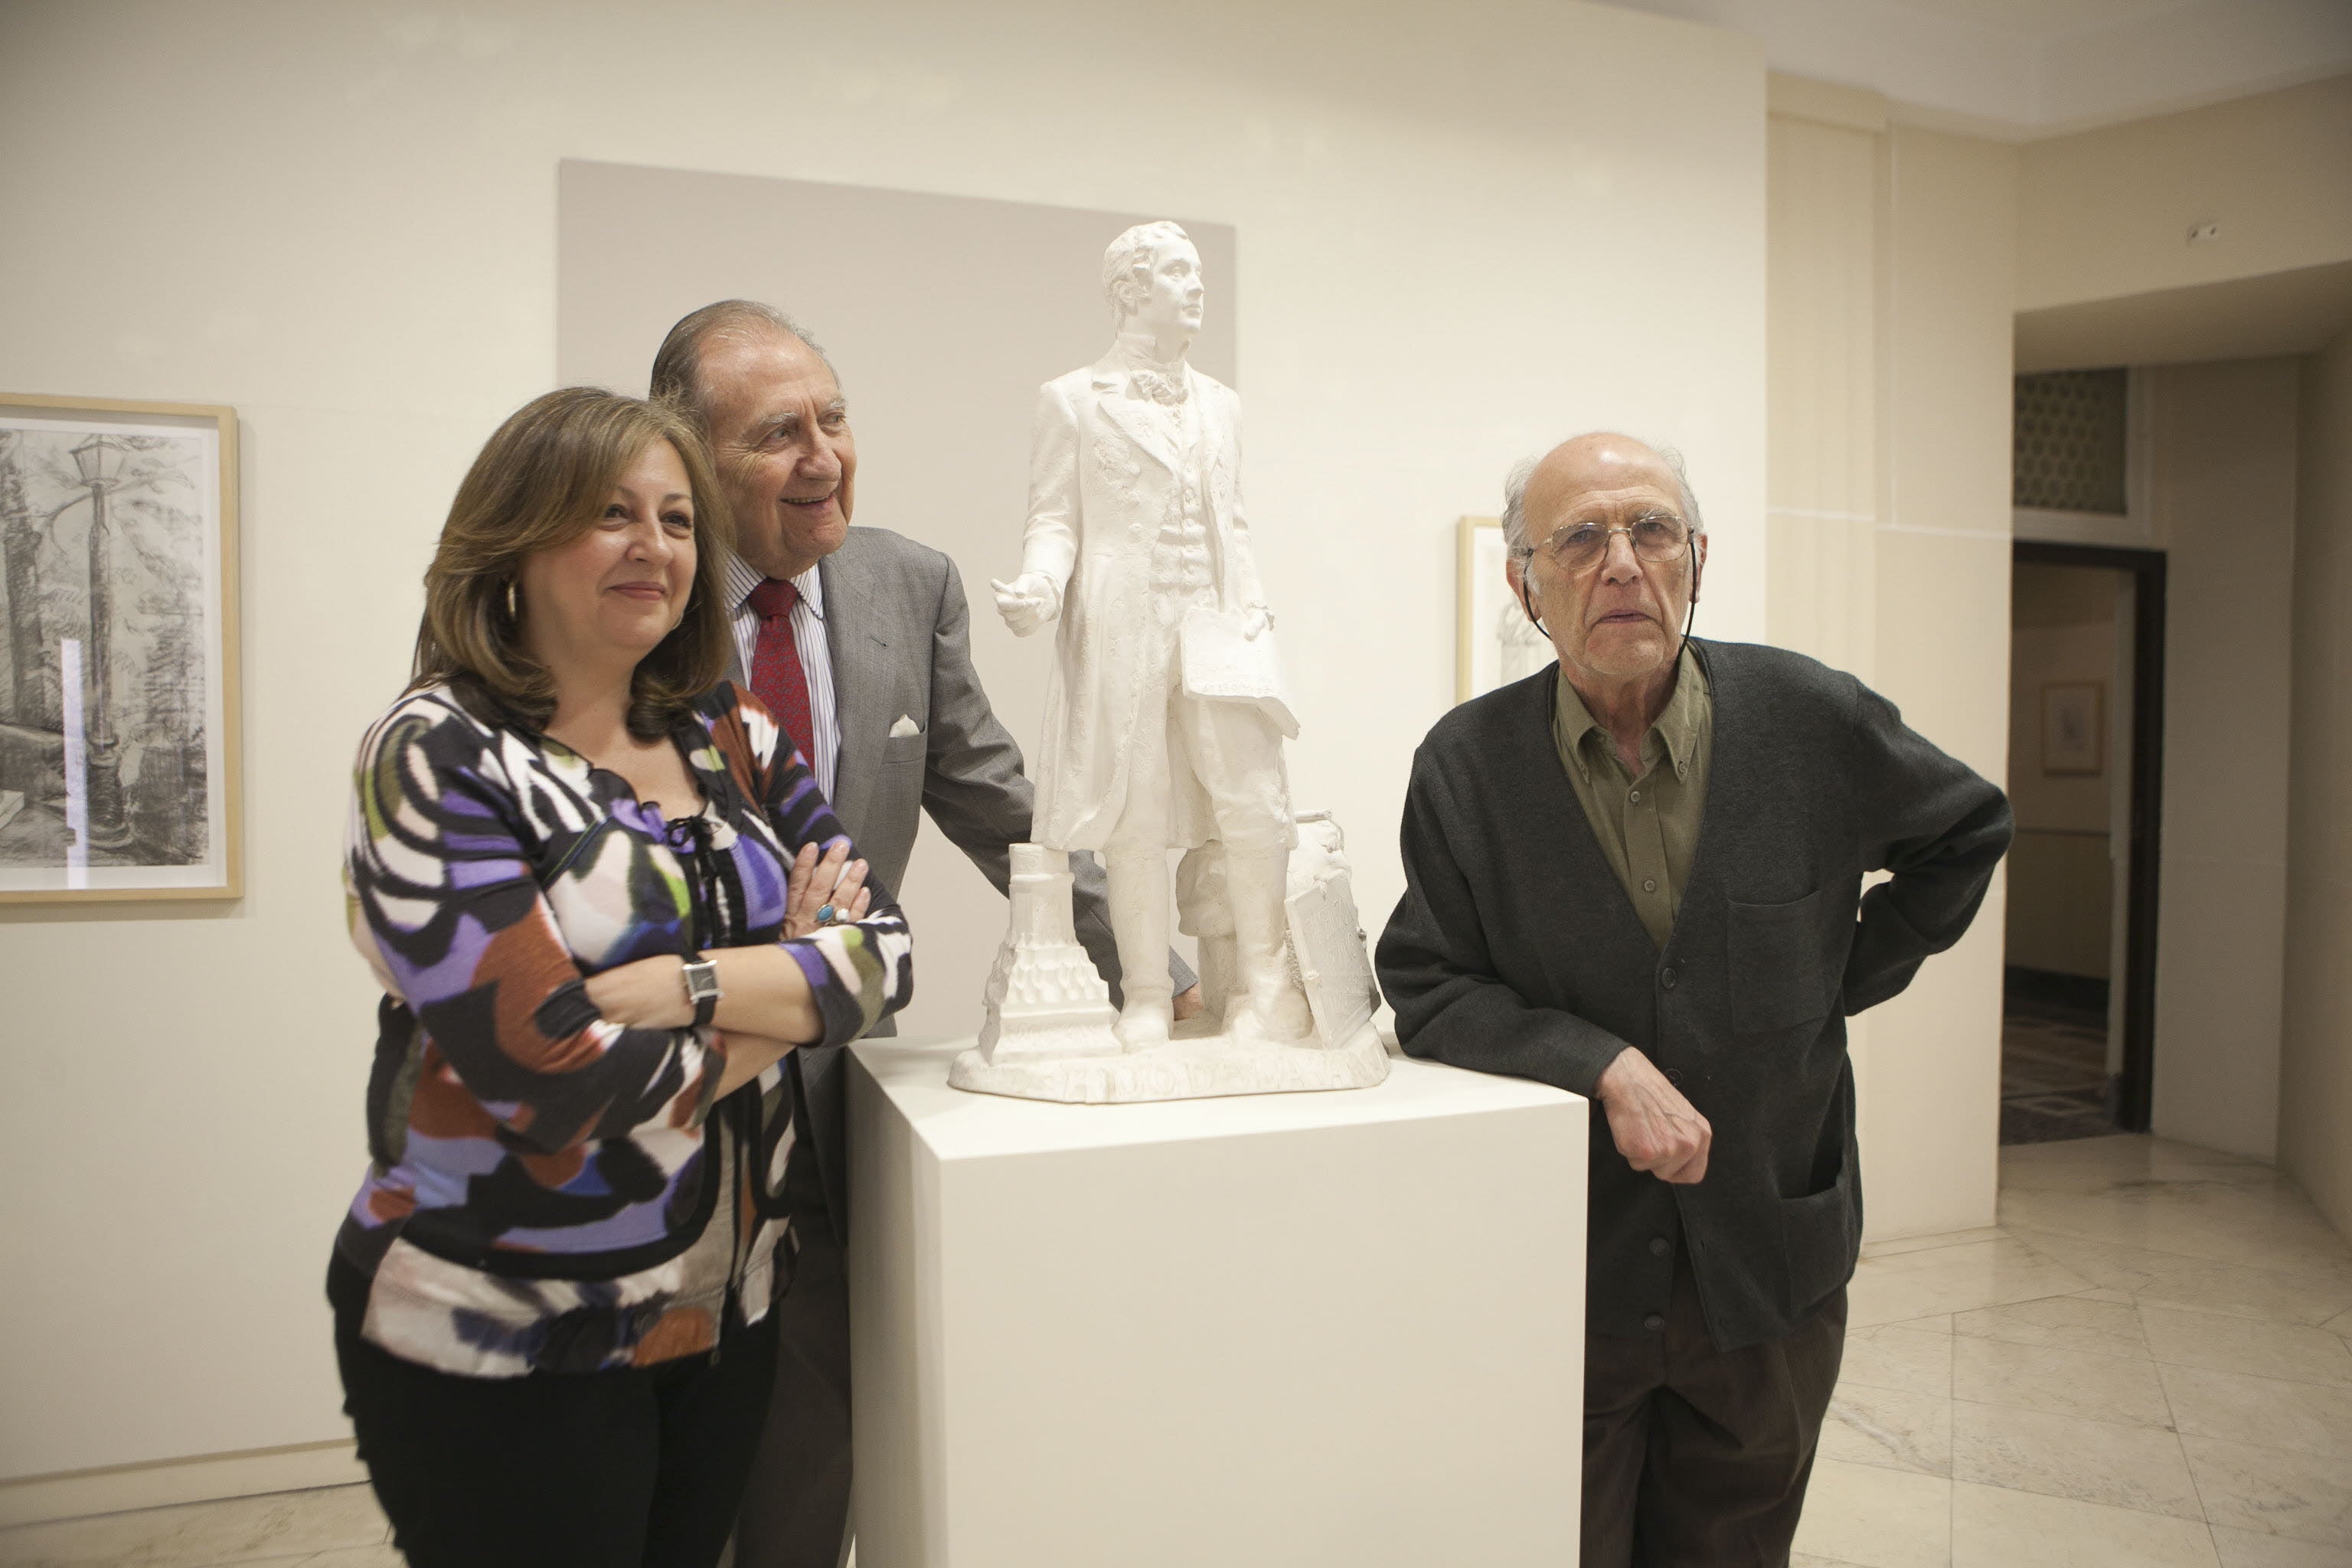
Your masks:
{"label": "narrow shadowed beige wall strip just right of the dark door frame", "polygon": [[2272,1159],[2286,943],[2296,362],[2147,376],[2166,550],[2154,1131]]}

